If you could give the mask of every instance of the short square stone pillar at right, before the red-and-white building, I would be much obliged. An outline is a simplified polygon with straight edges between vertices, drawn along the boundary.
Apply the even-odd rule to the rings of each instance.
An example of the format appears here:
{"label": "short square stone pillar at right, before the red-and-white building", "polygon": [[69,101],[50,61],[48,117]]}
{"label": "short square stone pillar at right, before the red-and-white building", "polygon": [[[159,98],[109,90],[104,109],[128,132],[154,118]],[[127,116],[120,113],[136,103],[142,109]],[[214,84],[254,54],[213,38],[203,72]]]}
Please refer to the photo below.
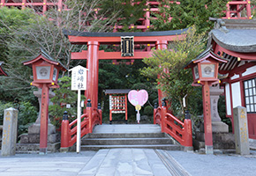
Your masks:
{"label": "short square stone pillar at right, before the red-and-white building", "polygon": [[250,155],[246,108],[237,106],[233,112],[236,152],[241,155]]}

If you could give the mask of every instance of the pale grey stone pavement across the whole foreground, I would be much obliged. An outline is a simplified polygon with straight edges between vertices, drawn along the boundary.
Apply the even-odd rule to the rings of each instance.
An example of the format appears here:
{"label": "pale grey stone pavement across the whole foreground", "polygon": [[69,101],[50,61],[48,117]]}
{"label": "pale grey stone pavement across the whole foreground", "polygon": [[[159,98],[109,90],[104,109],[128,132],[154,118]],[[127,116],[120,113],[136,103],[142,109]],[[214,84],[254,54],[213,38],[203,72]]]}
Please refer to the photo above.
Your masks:
{"label": "pale grey stone pavement across the whole foreground", "polygon": [[204,155],[151,149],[110,149],[0,157],[0,176],[256,175],[251,155]]}

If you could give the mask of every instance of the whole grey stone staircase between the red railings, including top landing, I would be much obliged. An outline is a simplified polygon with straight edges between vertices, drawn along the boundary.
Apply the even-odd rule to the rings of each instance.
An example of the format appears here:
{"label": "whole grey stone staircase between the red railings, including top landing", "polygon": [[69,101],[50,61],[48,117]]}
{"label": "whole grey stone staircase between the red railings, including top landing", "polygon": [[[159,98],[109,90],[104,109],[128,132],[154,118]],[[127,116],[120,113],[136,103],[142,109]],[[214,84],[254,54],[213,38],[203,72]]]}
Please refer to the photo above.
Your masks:
{"label": "whole grey stone staircase between the red railings, including top landing", "polygon": [[102,125],[81,140],[81,150],[115,148],[184,150],[157,125]]}

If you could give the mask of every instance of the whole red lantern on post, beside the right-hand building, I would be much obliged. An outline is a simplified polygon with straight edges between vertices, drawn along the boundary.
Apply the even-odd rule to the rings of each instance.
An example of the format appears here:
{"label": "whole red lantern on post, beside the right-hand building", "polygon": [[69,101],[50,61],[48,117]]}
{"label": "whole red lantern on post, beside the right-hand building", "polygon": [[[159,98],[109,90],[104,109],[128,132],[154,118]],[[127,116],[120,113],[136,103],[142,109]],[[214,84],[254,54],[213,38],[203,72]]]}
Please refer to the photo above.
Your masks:
{"label": "whole red lantern on post, beside the right-hand building", "polygon": [[202,86],[206,154],[214,153],[209,86],[220,82],[218,79],[219,62],[228,61],[215,55],[211,48],[208,48],[184,68],[192,69],[192,85]]}

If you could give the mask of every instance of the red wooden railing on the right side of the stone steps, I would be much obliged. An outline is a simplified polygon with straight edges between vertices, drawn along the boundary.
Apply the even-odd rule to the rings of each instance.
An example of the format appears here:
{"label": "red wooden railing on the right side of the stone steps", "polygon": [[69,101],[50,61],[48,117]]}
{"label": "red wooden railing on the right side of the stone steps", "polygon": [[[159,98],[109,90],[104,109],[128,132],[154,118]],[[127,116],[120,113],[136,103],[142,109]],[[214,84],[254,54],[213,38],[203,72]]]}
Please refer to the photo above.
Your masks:
{"label": "red wooden railing on the right side of the stone steps", "polygon": [[154,124],[159,124],[163,133],[167,133],[185,147],[192,147],[192,121],[179,121],[174,115],[167,113],[166,106],[154,108]]}

